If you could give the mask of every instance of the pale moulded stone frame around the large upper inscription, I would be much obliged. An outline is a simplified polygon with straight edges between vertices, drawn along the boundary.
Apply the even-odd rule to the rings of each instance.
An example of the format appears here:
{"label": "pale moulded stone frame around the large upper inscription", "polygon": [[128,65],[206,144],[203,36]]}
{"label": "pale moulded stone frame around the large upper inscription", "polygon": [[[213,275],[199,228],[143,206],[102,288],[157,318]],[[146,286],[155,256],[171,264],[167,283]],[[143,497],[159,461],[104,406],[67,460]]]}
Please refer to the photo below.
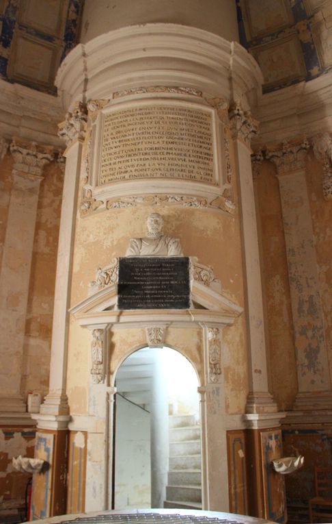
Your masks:
{"label": "pale moulded stone frame around the large upper inscription", "polygon": [[[98,173],[100,169],[100,157],[102,152],[102,130],[105,116],[117,109],[148,107],[148,105],[178,104],[182,107],[204,110],[212,119],[212,155],[215,184],[197,182],[185,178],[151,177],[146,179],[124,180],[123,182],[111,182],[98,186]],[[165,195],[188,195],[204,197],[208,202],[223,193],[227,177],[225,173],[225,160],[223,154],[223,123],[219,120],[217,110],[212,108],[204,99],[197,101],[196,96],[175,95],[174,93],[147,93],[140,95],[128,95],[121,99],[113,99],[104,108],[100,109],[95,123],[92,125],[92,153],[90,158],[90,173],[88,186],[91,188],[94,199],[108,199],[115,197],[132,197],[133,195],[150,195],[157,192]]]}

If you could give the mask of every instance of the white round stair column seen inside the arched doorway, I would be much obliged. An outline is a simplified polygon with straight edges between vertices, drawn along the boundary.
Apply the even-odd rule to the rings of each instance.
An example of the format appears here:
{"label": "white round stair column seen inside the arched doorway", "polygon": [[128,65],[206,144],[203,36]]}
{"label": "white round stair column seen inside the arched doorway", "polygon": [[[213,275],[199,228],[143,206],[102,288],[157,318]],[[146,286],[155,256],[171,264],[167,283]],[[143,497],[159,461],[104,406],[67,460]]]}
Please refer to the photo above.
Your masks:
{"label": "white round stair column seen inside the arched doorway", "polygon": [[150,397],[151,508],[163,508],[168,471],[168,394],[161,354],[155,349]]}

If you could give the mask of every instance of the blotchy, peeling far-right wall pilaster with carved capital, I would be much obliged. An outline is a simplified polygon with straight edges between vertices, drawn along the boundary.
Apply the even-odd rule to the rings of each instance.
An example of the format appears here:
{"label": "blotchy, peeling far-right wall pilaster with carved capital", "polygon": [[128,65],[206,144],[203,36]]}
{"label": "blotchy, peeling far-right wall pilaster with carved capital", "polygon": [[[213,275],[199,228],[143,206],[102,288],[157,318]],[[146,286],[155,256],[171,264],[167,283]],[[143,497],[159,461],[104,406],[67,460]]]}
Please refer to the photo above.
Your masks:
{"label": "blotchy, peeling far-right wall pilaster with carved capital", "polygon": [[305,180],[306,140],[269,149],[277,167],[294,323],[299,392],[295,410],[331,409],[331,379],[324,338],[314,230]]}

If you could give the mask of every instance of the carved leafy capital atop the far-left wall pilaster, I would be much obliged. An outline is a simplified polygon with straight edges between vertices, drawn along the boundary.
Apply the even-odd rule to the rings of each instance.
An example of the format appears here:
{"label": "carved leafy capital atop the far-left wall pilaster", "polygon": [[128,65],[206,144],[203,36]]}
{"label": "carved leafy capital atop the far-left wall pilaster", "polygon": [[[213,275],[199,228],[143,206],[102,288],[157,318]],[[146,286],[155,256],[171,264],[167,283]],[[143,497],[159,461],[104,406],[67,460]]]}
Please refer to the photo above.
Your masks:
{"label": "carved leafy capital atop the far-left wall pilaster", "polygon": [[13,138],[10,153],[14,158],[14,171],[34,177],[42,177],[44,166],[54,158],[53,147],[38,146],[36,142],[27,143],[18,138]]}

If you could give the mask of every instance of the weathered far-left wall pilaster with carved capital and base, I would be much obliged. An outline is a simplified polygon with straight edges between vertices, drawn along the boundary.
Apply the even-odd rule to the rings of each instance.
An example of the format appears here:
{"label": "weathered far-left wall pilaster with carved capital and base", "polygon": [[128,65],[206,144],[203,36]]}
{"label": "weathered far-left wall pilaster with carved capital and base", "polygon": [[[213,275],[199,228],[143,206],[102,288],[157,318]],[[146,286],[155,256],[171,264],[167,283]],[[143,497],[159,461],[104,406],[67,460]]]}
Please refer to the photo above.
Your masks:
{"label": "weathered far-left wall pilaster with carved capital and base", "polygon": [[[5,143],[1,149],[4,154]],[[12,365],[0,372],[0,412],[25,412],[20,384],[33,239],[42,171],[53,160],[53,147],[14,139],[10,152],[14,169],[0,274],[0,355]]]}

